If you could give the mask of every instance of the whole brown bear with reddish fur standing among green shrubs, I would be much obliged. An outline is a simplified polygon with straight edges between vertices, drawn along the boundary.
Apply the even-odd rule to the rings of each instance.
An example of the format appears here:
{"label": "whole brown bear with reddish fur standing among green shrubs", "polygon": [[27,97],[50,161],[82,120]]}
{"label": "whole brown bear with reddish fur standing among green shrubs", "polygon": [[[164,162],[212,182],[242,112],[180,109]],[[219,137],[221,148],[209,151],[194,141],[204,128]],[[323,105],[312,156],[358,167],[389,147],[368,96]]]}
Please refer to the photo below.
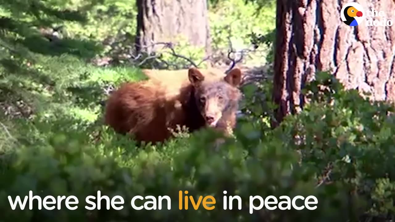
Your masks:
{"label": "whole brown bear with reddish fur standing among green shrubs", "polygon": [[212,127],[228,134],[236,124],[241,71],[234,68],[221,78],[206,78],[196,68],[185,73],[188,83],[150,79],[123,84],[107,101],[105,123],[139,142],[163,142],[177,125],[189,132]]}

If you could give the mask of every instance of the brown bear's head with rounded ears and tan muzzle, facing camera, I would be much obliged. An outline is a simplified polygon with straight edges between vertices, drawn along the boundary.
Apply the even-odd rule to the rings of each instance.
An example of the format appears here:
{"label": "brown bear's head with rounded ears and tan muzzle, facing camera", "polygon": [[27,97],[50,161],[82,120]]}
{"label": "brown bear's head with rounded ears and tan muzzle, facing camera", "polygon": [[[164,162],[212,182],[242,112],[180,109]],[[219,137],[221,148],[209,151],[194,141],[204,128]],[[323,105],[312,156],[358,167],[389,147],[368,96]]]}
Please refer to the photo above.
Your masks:
{"label": "brown bear's head with rounded ears and tan muzzle, facing camera", "polygon": [[219,122],[235,118],[241,97],[238,88],[241,83],[241,70],[234,68],[225,77],[208,81],[198,69],[190,68],[188,78],[194,87],[194,102],[206,126],[216,128]]}

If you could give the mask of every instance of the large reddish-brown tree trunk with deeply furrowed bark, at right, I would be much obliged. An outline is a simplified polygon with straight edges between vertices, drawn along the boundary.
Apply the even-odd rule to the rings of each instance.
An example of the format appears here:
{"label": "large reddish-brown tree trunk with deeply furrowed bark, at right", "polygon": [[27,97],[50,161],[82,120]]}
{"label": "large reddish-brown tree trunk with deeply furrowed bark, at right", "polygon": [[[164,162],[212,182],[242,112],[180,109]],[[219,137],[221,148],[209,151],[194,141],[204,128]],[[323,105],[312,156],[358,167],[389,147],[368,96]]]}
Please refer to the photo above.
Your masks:
{"label": "large reddish-brown tree trunk with deeply furrowed bark, at right", "polygon": [[[366,13],[384,11],[395,22],[393,0],[357,0],[365,21],[347,26],[340,10],[349,0],[278,0],[273,100],[277,122],[303,107],[301,88],[316,71],[330,71],[346,88],[395,100],[395,25],[367,26]],[[276,125],[276,124],[275,124]]]}

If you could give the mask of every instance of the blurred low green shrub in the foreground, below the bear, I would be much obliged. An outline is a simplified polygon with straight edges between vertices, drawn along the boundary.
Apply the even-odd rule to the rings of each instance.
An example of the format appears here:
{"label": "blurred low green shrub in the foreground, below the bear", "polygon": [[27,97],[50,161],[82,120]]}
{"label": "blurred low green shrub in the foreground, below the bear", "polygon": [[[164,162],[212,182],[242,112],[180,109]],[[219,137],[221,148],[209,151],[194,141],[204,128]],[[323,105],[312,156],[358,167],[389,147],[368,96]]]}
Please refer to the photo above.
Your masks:
{"label": "blurred low green shrub in the foreground, below the bear", "polygon": [[[70,121],[38,124],[42,137],[21,144],[13,164],[3,171],[0,207],[4,220],[38,218],[46,221],[56,216],[65,221],[83,221],[84,218],[100,218],[100,221],[126,218],[150,221],[227,218],[244,221],[254,219],[258,214],[249,214],[248,210],[222,211],[223,190],[237,194],[245,201],[249,195],[292,196],[314,191],[312,180],[303,180],[311,174],[309,176],[308,171],[297,166],[295,152],[278,149],[278,140],[269,143],[260,143],[257,139],[229,141],[228,149],[224,147],[216,152],[210,145],[215,136],[211,132],[201,132],[188,138],[188,143],[182,141],[186,138],[180,138],[177,143],[173,141],[165,146],[133,150],[136,149],[133,143],[127,143],[125,138],[120,138],[123,142],[114,140],[119,136],[112,134],[111,130],[102,135],[100,144],[95,146],[87,139],[83,126],[75,128],[66,122]],[[62,127],[56,130],[53,126]],[[120,143],[122,147],[117,149]],[[187,147],[181,147],[181,144]],[[245,152],[245,147],[254,145],[255,152]],[[132,151],[128,152],[129,149]],[[291,166],[296,168],[292,170]],[[40,196],[74,195],[81,205],[76,211],[11,211],[7,196],[24,196],[29,190]],[[86,216],[83,208],[85,197],[96,196],[97,190],[110,197],[122,196],[126,200],[125,208],[121,211],[93,211]],[[217,200],[216,209],[179,211],[178,190],[188,190],[194,196],[213,195]],[[128,202],[135,195],[169,195],[172,208],[153,212],[130,209]],[[34,208],[37,209],[37,205]],[[288,216],[301,216],[300,212],[294,213]]]}

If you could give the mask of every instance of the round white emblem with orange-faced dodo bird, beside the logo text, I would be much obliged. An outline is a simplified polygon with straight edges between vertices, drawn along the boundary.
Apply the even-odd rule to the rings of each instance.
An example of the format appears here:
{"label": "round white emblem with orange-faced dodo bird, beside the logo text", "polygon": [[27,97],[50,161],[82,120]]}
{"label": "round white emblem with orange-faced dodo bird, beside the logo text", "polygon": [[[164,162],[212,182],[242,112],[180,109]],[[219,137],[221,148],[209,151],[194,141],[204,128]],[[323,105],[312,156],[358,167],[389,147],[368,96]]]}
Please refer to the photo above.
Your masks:
{"label": "round white emblem with orange-faced dodo bird, beside the logo text", "polygon": [[349,2],[340,11],[342,21],[349,26],[357,26],[362,23],[365,12],[360,4]]}

